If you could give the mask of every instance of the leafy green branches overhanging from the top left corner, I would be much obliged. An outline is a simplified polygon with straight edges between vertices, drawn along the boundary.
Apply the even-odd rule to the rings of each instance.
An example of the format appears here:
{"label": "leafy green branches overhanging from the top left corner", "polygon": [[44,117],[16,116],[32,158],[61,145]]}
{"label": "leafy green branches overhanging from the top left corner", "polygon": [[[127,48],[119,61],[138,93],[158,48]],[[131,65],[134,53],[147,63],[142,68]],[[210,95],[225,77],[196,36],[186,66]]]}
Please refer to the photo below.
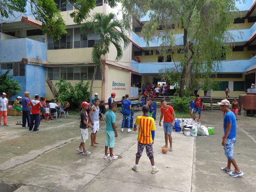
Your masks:
{"label": "leafy green branches overhanging from the top left corner", "polygon": [[[96,6],[95,0],[65,0],[64,5],[72,4],[76,10],[70,14],[76,24],[81,24],[88,18],[90,10]],[[104,0],[110,7],[116,6],[116,0]],[[26,13],[26,8],[31,9],[36,20],[42,22],[43,33],[48,33],[55,40],[60,40],[61,35],[66,34],[66,24],[61,17],[61,11],[57,9],[54,0],[1,0],[0,15],[4,18],[15,16],[15,12]]]}

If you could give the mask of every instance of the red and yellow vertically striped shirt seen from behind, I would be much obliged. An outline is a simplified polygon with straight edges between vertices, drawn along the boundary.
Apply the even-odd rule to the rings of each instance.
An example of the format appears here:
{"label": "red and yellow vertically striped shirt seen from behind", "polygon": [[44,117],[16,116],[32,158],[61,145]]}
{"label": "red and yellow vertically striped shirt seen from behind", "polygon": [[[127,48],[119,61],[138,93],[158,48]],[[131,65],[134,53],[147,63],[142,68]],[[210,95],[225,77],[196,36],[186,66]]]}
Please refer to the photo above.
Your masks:
{"label": "red and yellow vertically striped shirt seen from behind", "polygon": [[156,130],[155,120],[150,116],[138,116],[135,122],[139,125],[138,142],[150,144],[153,142],[151,131]]}

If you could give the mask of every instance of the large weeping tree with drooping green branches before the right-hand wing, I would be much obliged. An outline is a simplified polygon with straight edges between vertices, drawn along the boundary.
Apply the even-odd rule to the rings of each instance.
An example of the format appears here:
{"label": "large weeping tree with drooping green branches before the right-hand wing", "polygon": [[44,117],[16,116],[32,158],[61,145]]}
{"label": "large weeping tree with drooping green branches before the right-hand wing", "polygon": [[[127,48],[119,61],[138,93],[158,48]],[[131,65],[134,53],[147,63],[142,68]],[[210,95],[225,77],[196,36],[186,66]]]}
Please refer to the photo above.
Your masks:
{"label": "large weeping tree with drooping green branches before the right-hand wing", "polygon": [[[228,32],[236,11],[234,0],[121,0],[126,28],[131,21],[148,15],[149,20],[142,27],[142,35],[150,42],[162,42],[160,49],[173,49],[182,45],[180,96],[184,87],[191,87],[193,78],[201,74],[210,78],[218,71],[223,55],[230,52],[229,45],[234,38]],[[159,26],[163,29],[157,36]],[[177,34],[183,34],[177,38]],[[183,42],[180,42],[183,41]],[[217,61],[217,62],[215,62]],[[196,73],[194,73],[196,72]]]}

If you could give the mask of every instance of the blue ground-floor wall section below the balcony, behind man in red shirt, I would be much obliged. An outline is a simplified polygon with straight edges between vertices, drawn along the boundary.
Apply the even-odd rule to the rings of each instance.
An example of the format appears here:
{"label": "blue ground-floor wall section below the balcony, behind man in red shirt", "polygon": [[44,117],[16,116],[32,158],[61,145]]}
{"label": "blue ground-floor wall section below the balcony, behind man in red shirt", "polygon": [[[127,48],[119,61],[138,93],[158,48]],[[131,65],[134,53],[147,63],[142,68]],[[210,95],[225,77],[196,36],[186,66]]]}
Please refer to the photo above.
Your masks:
{"label": "blue ground-floor wall section below the balcony, behind man in red shirt", "polygon": [[30,97],[35,94],[46,96],[46,68],[26,64],[26,91],[30,92]]}

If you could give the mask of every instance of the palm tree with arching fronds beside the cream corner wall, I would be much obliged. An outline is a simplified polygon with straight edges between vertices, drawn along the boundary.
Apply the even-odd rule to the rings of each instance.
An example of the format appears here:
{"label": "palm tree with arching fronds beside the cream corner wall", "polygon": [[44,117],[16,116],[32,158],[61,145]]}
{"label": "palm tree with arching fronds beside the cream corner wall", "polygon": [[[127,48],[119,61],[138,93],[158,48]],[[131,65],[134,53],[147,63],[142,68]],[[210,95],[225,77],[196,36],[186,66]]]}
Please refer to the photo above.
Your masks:
{"label": "palm tree with arching fronds beside the cream corner wall", "polygon": [[113,44],[116,48],[116,60],[120,60],[123,56],[122,42],[124,49],[128,47],[129,41],[124,32],[124,26],[120,20],[117,20],[116,15],[113,13],[103,14],[96,13],[92,16],[91,21],[85,22],[81,31],[87,37],[89,29],[94,30],[95,34],[99,36],[99,41],[94,44],[92,48],[92,61],[96,64],[92,81],[90,84],[90,99],[92,98],[92,85],[96,76],[97,70],[101,70],[102,84],[105,82],[105,66],[104,60],[101,56],[109,53],[110,45]]}

